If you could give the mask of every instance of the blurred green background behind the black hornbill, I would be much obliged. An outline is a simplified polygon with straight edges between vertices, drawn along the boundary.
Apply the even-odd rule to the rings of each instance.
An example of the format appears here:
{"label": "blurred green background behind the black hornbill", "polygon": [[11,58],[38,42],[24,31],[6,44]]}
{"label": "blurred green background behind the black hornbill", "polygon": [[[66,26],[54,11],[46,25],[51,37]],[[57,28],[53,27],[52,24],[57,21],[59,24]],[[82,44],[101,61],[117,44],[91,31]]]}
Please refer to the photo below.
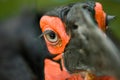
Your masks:
{"label": "blurred green background behind the black hornbill", "polygon": [[[22,10],[47,10],[60,5],[86,0],[0,0],[0,21],[19,15]],[[88,0],[89,1],[89,0]],[[116,18],[109,27],[120,40],[120,0],[94,0],[101,2],[105,12],[115,15]],[[34,10],[33,10],[34,11]]]}

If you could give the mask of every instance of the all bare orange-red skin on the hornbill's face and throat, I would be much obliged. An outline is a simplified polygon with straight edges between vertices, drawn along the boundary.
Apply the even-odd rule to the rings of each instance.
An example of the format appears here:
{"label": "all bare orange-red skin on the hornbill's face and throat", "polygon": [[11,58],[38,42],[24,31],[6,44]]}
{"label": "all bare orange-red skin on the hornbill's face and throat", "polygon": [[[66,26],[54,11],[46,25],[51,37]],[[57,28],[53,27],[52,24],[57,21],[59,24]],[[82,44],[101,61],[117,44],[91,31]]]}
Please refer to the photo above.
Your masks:
{"label": "all bare orange-red skin on the hornbill's face and throat", "polygon": [[[102,9],[102,5],[100,3],[96,3],[95,6],[95,19],[98,23],[98,26],[101,30],[105,31],[105,18],[106,14]],[[53,16],[43,16],[40,20],[40,28],[42,32],[46,30],[52,30],[58,35],[58,41],[53,43],[47,40],[44,36],[47,48],[51,54],[58,54],[53,60],[60,60],[62,59],[62,53],[66,45],[69,43],[70,35],[66,33],[66,25],[59,17]],[[50,59],[45,59],[45,80],[83,80],[80,74],[69,74],[65,69],[64,65],[62,64],[63,70],[60,69],[60,65]],[[91,80],[91,79],[85,79]],[[102,76],[96,77],[92,80],[115,80],[113,77],[110,76]]]}

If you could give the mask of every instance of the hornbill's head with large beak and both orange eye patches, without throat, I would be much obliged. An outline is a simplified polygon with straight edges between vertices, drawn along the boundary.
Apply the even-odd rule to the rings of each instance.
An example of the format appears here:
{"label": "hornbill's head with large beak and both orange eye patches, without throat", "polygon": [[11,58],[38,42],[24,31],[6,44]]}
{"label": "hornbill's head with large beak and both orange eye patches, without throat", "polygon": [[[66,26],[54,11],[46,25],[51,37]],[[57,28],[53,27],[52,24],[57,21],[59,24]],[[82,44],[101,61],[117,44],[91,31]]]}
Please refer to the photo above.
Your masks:
{"label": "hornbill's head with large beak and both orange eye patches, without throat", "polygon": [[68,73],[81,74],[85,80],[95,80],[91,74],[119,76],[119,52],[104,33],[107,24],[107,14],[98,2],[63,6],[40,20],[51,60],[61,60]]}

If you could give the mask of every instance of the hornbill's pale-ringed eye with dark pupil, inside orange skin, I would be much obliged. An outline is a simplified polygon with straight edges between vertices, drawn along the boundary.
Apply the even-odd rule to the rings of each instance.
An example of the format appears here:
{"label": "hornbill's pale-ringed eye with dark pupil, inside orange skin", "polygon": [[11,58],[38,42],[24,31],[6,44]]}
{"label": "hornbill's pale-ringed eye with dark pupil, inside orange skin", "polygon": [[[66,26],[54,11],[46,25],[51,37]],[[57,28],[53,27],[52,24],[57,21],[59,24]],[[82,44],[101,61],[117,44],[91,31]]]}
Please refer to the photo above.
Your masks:
{"label": "hornbill's pale-ringed eye with dark pupil, inside orange skin", "polygon": [[49,30],[49,32],[45,34],[45,37],[51,43],[55,43],[59,39],[58,35],[52,30]]}

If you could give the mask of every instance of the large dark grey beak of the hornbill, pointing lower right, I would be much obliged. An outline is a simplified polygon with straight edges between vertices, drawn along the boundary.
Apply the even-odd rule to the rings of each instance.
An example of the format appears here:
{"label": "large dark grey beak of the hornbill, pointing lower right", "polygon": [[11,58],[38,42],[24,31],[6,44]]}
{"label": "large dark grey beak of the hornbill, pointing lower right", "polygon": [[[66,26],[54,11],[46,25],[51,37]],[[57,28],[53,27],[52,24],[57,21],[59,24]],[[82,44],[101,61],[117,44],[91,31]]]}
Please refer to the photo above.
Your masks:
{"label": "large dark grey beak of the hornbill, pointing lower right", "polygon": [[[114,16],[108,16],[111,20]],[[71,39],[65,48],[63,61],[70,73],[91,71],[98,75],[114,75],[120,79],[120,54],[114,43],[105,36],[82,5],[75,5],[66,19]],[[74,29],[72,25],[77,27]]]}

